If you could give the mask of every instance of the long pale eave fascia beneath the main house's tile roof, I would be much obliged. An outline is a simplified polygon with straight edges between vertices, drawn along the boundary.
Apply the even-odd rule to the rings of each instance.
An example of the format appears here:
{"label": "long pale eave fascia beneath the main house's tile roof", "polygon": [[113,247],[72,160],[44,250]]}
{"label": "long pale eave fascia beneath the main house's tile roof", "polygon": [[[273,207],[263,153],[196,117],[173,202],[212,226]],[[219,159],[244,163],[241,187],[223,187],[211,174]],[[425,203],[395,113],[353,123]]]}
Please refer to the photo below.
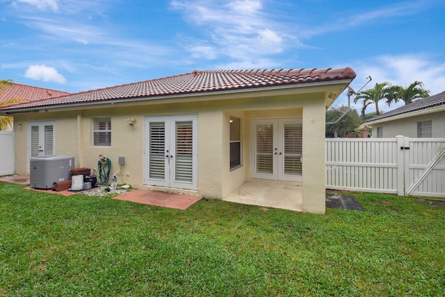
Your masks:
{"label": "long pale eave fascia beneath the main house's tile roof", "polygon": [[[255,88],[246,88],[246,89],[236,89],[236,90],[221,90],[214,92],[195,92],[195,93],[187,93],[187,94],[172,94],[172,95],[161,95],[161,96],[141,96],[141,97],[133,97],[129,99],[105,99],[102,101],[86,101],[82,103],[65,103],[58,105],[41,105],[41,106],[33,106],[29,108],[17,108],[10,110],[0,110],[0,114],[5,115],[13,115],[13,114],[21,114],[21,113],[29,113],[29,112],[38,112],[39,110],[50,110],[56,108],[77,108],[82,106],[90,106],[90,105],[102,105],[102,104],[115,104],[115,103],[133,103],[138,101],[147,101],[149,100],[167,100],[167,99],[177,99],[177,98],[186,98],[186,97],[196,97],[196,96],[217,96],[223,94],[236,94],[236,93],[254,93],[254,92],[264,92],[264,91],[274,91],[274,90],[290,90],[290,89],[300,89],[300,88],[312,88],[312,87],[327,87],[329,85],[348,85],[354,78],[347,78],[342,80],[327,80],[322,82],[315,83],[301,83],[301,84],[293,84],[293,85],[277,85],[277,86],[267,86],[267,87],[255,87]],[[343,88],[344,90],[344,88]],[[308,92],[309,93],[309,92]],[[339,92],[341,94],[341,92]],[[336,94],[335,99],[339,96]],[[335,100],[334,99],[334,100]]]}

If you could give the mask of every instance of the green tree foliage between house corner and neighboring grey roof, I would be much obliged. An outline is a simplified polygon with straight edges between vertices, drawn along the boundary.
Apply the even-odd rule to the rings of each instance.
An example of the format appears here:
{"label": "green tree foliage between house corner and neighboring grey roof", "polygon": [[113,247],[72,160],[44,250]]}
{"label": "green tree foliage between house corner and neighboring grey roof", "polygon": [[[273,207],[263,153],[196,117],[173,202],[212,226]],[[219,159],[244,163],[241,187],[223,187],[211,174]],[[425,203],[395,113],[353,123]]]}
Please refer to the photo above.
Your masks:
{"label": "green tree foliage between house corner and neighboring grey roof", "polygon": [[[326,121],[335,121],[341,114],[348,110],[348,106],[341,105],[339,108],[330,109],[326,111]],[[355,128],[362,124],[362,119],[360,118],[357,110],[351,109],[348,114],[346,114],[343,119],[341,119],[336,124],[327,124],[325,130],[325,136],[328,138],[346,137],[349,133],[352,133]]]}

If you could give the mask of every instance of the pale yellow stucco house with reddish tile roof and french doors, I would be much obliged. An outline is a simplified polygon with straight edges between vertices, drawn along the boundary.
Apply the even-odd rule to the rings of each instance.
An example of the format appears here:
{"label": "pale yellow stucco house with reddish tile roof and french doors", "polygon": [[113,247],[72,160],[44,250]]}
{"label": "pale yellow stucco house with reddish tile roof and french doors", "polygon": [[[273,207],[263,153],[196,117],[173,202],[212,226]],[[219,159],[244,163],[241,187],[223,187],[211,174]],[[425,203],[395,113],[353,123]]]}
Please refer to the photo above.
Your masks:
{"label": "pale yellow stucco house with reddish tile roof and french doors", "polygon": [[324,213],[325,111],[354,78],[350,68],[195,70],[0,114],[15,118],[17,173],[33,155],[91,169],[105,155],[113,176],[124,157],[118,178],[136,188],[223,199],[244,183],[296,185],[301,210]]}

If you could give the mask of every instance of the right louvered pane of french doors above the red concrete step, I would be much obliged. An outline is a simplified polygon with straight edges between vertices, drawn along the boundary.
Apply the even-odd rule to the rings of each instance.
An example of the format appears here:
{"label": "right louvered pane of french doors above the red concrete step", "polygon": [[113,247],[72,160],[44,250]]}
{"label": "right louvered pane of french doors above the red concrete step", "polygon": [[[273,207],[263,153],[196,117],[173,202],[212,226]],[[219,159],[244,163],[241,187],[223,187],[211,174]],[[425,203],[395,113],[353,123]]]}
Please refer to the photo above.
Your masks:
{"label": "right louvered pane of french doors above the red concrete step", "polygon": [[176,122],[175,180],[193,182],[193,125],[191,121]]}

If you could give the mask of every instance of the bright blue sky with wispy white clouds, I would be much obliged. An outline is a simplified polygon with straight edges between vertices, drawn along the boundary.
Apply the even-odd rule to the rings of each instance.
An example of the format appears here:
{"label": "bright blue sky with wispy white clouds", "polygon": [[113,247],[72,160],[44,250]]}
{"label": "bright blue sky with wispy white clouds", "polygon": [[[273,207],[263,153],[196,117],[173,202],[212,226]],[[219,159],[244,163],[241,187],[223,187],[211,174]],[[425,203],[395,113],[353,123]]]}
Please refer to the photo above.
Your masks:
{"label": "bright blue sky with wispy white clouds", "polygon": [[444,0],[0,0],[0,80],[83,92],[194,69],[351,67],[355,90],[371,76],[364,90],[419,80],[433,95],[444,15]]}

